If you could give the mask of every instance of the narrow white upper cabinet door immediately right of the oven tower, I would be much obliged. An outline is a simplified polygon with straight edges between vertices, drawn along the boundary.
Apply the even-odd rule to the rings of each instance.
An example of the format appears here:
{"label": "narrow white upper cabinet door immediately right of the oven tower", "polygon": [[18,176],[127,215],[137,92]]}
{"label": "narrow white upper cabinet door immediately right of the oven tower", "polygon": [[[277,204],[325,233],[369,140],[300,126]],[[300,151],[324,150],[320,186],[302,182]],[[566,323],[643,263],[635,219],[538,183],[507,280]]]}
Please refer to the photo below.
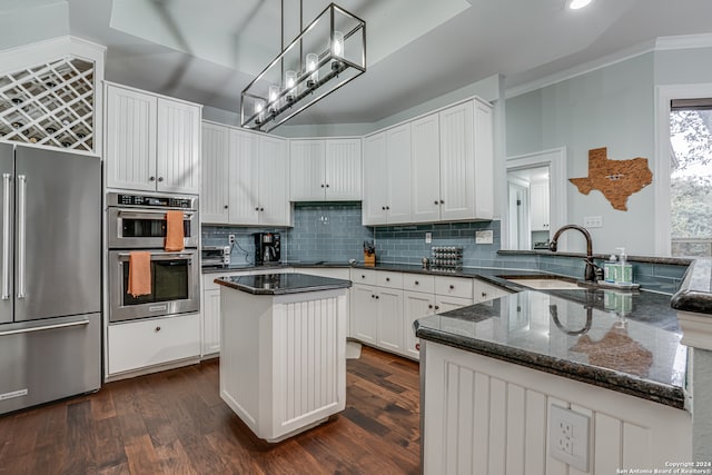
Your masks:
{"label": "narrow white upper cabinet door immediately right of the oven tower", "polygon": [[202,122],[202,188],[200,219],[202,222],[228,224],[229,215],[229,129]]}

